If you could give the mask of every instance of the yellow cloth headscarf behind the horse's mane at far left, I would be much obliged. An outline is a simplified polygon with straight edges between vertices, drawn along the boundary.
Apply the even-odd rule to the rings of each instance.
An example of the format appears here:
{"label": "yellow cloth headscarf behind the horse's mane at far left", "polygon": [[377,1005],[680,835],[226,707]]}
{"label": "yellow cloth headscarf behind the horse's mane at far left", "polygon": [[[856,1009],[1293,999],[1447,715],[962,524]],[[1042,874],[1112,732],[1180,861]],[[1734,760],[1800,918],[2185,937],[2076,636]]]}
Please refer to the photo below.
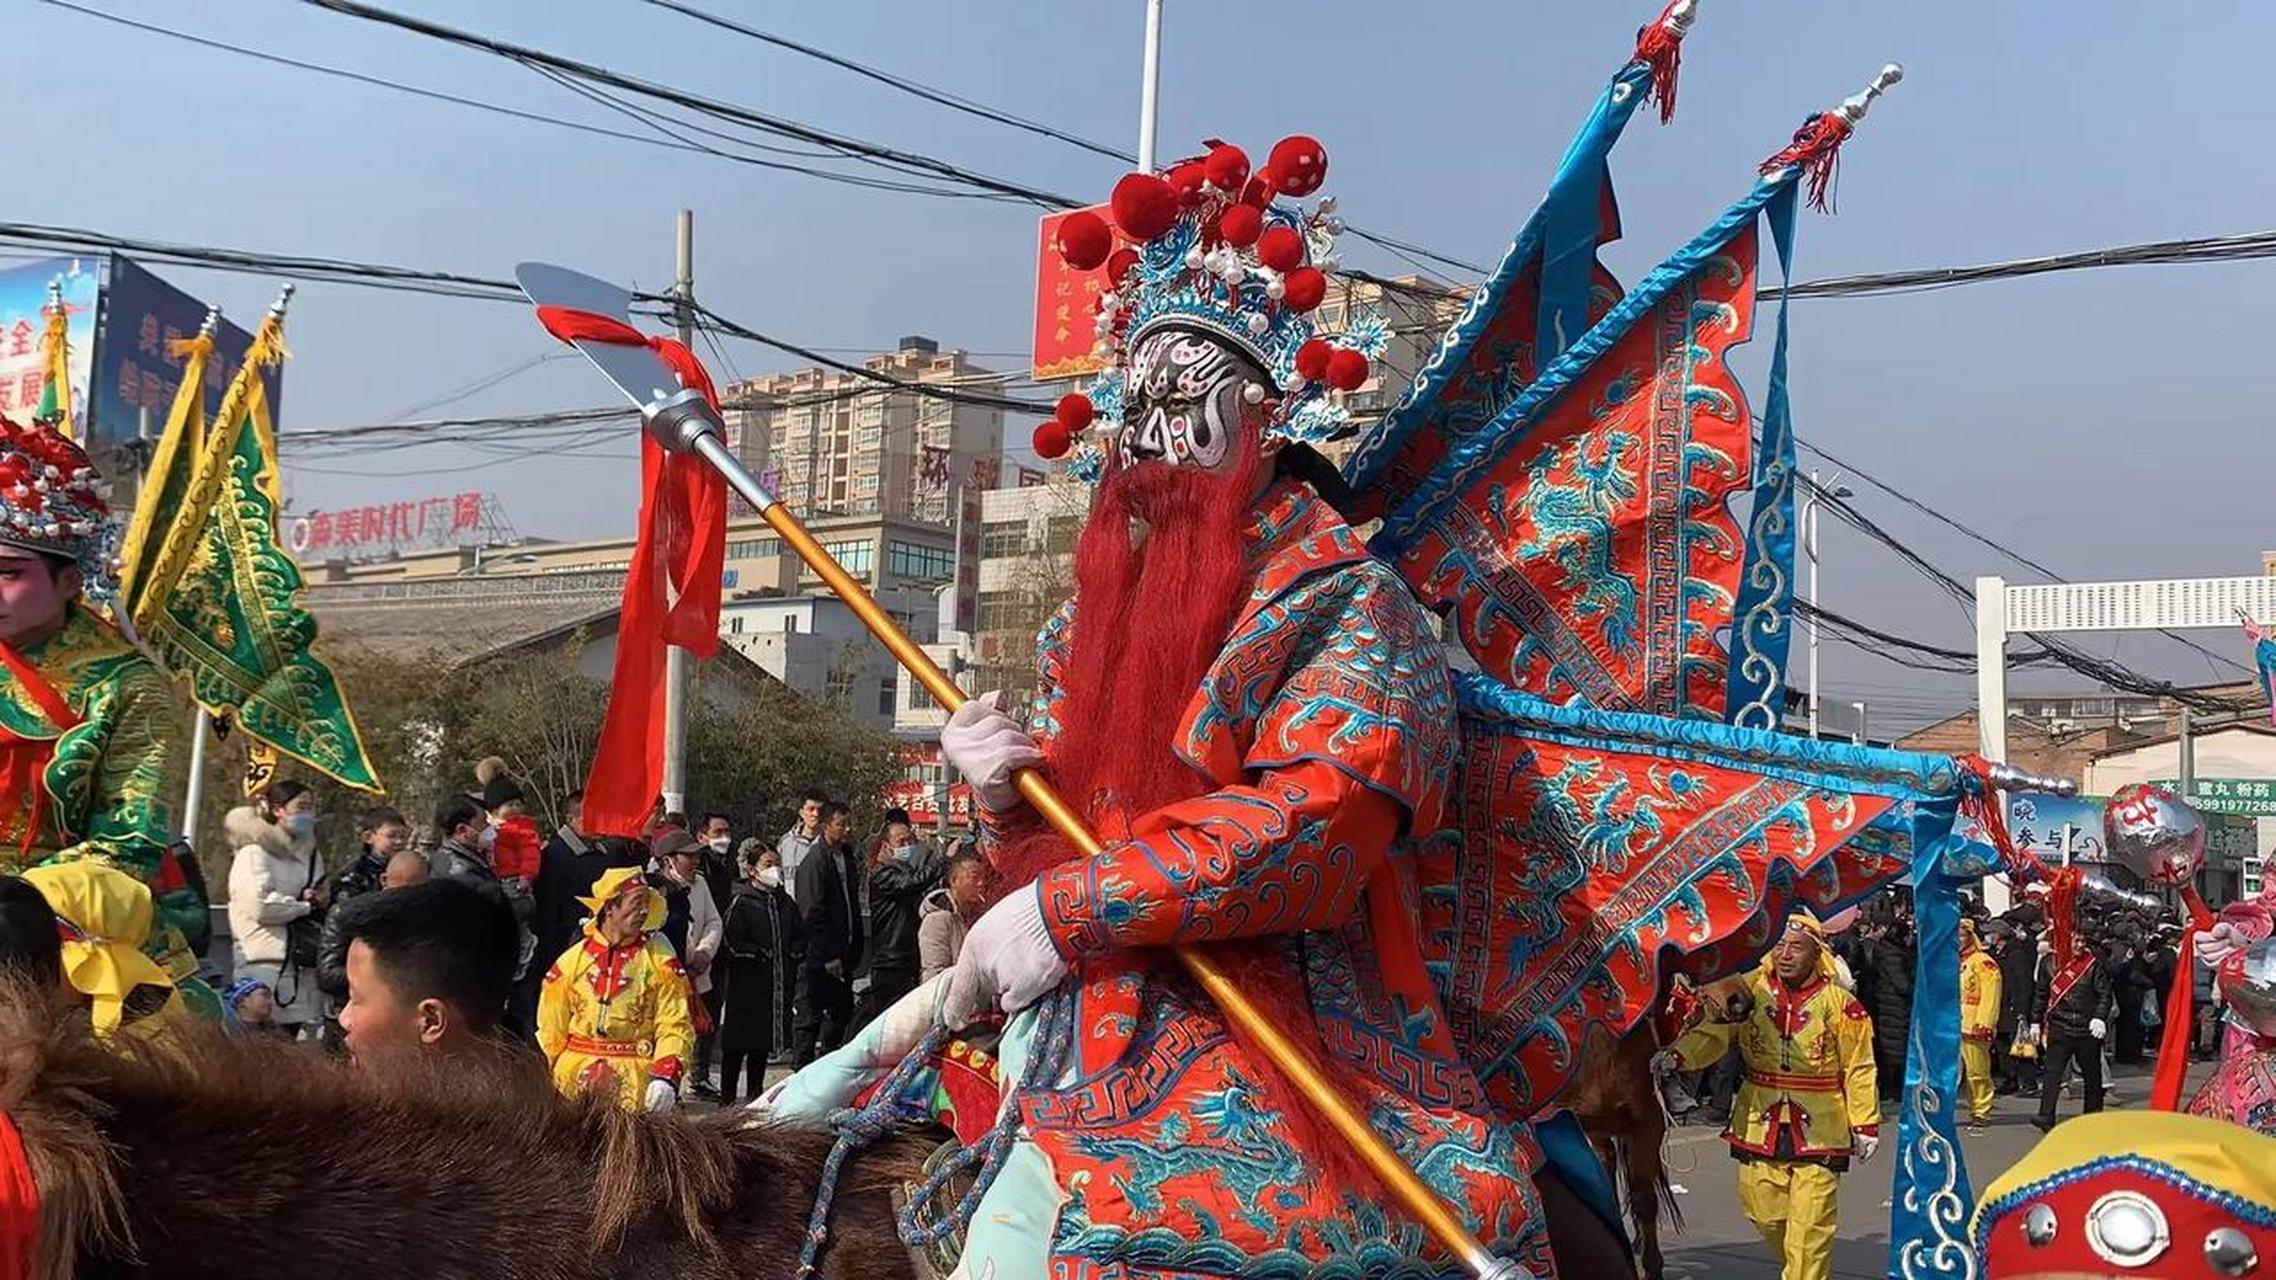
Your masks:
{"label": "yellow cloth headscarf behind the horse's mane at far left", "polygon": [[64,982],[89,1002],[98,1036],[157,1034],[182,1014],[173,979],[143,954],[155,916],[150,886],[93,861],[32,868],[23,881],[55,911]]}

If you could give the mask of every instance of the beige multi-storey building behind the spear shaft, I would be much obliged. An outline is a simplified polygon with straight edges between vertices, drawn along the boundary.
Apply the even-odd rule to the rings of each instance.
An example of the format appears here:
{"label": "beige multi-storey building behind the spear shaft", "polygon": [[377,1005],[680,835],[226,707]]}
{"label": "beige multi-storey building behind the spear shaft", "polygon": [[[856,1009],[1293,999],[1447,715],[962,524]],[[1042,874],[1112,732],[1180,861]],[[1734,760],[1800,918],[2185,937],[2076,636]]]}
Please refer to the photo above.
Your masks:
{"label": "beige multi-storey building behind the spear shaft", "polygon": [[881,378],[992,392],[1001,376],[929,337],[904,337],[863,369],[869,376],[799,369],[731,383],[721,396],[728,446],[797,512],[954,524],[967,485],[995,485],[1004,410],[892,389]]}

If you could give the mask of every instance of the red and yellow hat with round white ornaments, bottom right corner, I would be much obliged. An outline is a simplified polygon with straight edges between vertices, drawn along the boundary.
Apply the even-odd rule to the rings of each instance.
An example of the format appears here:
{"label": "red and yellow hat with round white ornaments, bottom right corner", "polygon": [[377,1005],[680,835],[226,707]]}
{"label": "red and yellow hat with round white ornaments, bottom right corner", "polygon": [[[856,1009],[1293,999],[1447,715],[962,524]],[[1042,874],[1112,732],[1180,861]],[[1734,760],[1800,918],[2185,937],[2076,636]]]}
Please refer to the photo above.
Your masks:
{"label": "red and yellow hat with round white ornaments, bottom right corner", "polygon": [[2078,1116],[1985,1187],[1982,1280],[2265,1275],[2276,1139],[2180,1111]]}

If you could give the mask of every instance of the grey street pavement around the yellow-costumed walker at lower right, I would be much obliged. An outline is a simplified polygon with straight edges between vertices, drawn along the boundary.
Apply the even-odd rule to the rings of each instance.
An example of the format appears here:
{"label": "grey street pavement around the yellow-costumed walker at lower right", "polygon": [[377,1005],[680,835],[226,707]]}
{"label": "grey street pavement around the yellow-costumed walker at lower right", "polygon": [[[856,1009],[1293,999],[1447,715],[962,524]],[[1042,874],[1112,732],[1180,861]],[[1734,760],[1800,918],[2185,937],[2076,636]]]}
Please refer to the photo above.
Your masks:
{"label": "grey street pavement around the yellow-costumed walker at lower right", "polygon": [[[2149,1068],[2119,1068],[2110,1109],[2142,1109],[2149,1105]],[[2190,1086],[2210,1070],[2210,1064],[2194,1064]],[[2078,1086],[2055,1111],[2067,1121],[2080,1111]],[[2037,1098],[1998,1098],[1991,1107],[1991,1125],[1982,1137],[1962,1132],[1960,1146],[1966,1157],[1969,1180],[1980,1191],[2001,1171],[2023,1157],[2037,1141],[2039,1130],[2030,1125],[2037,1114]],[[1889,1273],[1889,1187],[1894,1178],[1896,1123],[1882,1125],[1882,1146],[1871,1164],[1853,1166],[1841,1178],[1841,1232],[1834,1239],[1834,1275],[1846,1280],[1880,1280]],[[1677,1184],[1675,1203],[1682,1207],[1684,1225],[1661,1223],[1659,1246],[1666,1253],[1666,1280],[1778,1280],[1778,1260],[1771,1246],[1755,1234],[1755,1225],[1739,1212],[1739,1164],[1730,1159],[1721,1130],[1709,1125],[1682,1125],[1668,1137],[1668,1178]]]}

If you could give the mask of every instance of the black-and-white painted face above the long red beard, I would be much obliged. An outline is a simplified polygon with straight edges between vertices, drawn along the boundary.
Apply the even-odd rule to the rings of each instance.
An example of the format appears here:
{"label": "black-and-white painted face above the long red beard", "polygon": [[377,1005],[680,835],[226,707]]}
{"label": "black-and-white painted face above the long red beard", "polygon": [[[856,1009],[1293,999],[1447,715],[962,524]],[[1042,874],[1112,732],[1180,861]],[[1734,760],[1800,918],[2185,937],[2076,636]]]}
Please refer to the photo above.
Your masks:
{"label": "black-and-white painted face above the long red beard", "polygon": [[1240,456],[1236,433],[1268,392],[1256,364],[1215,337],[1156,330],[1129,358],[1122,456],[1220,471]]}

